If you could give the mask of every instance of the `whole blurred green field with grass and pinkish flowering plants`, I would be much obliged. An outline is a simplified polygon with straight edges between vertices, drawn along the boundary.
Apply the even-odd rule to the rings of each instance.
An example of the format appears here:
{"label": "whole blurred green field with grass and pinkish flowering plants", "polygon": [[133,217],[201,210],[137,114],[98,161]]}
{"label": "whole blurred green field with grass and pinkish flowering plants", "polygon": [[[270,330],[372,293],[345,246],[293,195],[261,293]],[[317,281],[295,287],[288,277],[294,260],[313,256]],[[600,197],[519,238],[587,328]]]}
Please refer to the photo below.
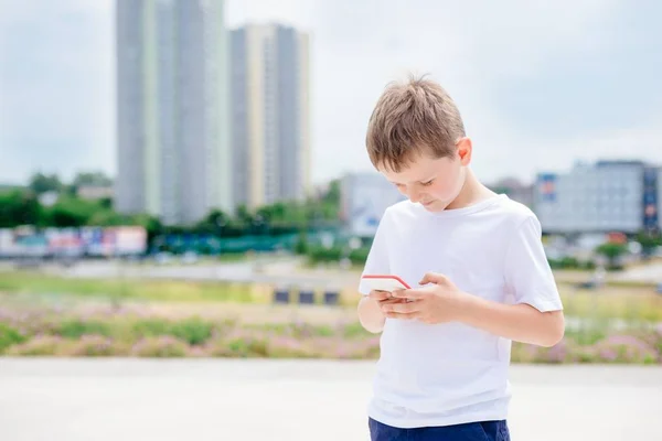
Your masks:
{"label": "whole blurred green field with grass and pinkish flowering plants", "polygon": [[[513,361],[662,363],[662,295],[654,288],[559,289],[573,319],[565,340],[554,348],[515,344]],[[270,287],[258,284],[0,272],[0,354],[376,356],[378,337],[356,320],[354,287],[340,299],[349,308],[275,305]]]}

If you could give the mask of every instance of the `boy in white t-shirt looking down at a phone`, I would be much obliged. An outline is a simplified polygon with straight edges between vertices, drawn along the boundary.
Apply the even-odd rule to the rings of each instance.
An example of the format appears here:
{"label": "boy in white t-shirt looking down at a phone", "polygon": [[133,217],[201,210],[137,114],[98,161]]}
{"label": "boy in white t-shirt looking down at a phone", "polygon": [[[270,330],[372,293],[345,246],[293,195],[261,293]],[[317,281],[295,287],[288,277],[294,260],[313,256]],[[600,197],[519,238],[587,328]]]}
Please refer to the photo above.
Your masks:
{"label": "boy in white t-shirt looking down at a phone", "polygon": [[384,213],[363,272],[413,287],[359,288],[362,325],[382,332],[372,440],[510,440],[511,341],[564,334],[538,219],[474,176],[460,114],[431,80],[388,87],[366,144],[407,200]]}

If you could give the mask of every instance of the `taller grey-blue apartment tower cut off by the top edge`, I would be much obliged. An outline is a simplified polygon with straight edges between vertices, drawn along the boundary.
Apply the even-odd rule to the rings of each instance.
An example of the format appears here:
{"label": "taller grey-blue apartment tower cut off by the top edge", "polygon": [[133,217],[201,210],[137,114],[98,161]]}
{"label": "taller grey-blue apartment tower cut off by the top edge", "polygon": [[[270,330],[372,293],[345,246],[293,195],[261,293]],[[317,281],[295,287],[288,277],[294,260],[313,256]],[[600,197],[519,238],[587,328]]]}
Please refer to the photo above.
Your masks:
{"label": "taller grey-blue apartment tower cut off by the top edge", "polygon": [[120,213],[191,224],[233,208],[223,0],[117,0]]}

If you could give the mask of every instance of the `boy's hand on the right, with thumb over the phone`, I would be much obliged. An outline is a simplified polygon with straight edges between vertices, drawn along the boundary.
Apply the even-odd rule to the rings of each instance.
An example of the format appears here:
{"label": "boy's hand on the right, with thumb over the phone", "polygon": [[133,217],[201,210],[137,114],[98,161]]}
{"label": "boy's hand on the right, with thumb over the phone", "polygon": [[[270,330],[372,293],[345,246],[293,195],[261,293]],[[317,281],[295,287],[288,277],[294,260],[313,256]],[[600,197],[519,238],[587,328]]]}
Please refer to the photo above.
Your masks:
{"label": "boy's hand on the right, with thumb over the phone", "polygon": [[424,323],[446,323],[458,319],[462,301],[469,295],[444,275],[428,272],[419,284],[430,287],[393,292],[404,302],[381,303],[384,315],[389,319],[419,320]]}

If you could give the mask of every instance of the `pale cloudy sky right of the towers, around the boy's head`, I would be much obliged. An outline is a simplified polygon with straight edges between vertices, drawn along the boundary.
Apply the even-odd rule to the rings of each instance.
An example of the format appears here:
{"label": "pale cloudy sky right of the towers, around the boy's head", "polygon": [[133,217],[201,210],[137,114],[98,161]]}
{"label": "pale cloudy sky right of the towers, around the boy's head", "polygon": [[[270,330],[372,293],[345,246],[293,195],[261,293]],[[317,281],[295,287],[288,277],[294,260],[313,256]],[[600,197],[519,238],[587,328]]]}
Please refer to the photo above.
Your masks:
{"label": "pale cloudy sky right of the towers, around the boy's head", "polygon": [[[431,73],[456,99],[476,141],[474,169],[485,180],[530,179],[551,163],[618,153],[618,141],[607,147],[617,136],[659,143],[650,128],[658,123],[651,111],[662,97],[654,79],[662,66],[637,47],[662,41],[661,32],[639,32],[645,12],[624,1],[584,0],[572,11],[567,3],[524,0],[389,1],[380,10],[355,2],[342,26],[342,11],[317,4],[313,79],[324,85],[316,88],[318,176],[346,164],[370,168],[363,136],[372,106],[408,69]],[[645,75],[628,68],[637,52]],[[636,87],[648,90],[645,99],[632,94]],[[620,146],[621,155],[640,153]]]}

